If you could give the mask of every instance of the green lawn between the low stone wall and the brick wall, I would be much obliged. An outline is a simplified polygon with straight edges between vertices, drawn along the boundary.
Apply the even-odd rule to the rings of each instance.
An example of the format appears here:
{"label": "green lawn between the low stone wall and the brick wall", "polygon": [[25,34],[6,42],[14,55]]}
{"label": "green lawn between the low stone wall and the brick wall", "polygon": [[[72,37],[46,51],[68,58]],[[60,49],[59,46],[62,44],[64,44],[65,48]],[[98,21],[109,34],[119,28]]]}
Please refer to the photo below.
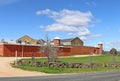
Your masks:
{"label": "green lawn between the low stone wall and the brick wall", "polygon": [[[116,62],[120,62],[120,56],[114,56]],[[58,58],[58,61],[61,62],[75,62],[75,63],[111,63],[114,59],[111,55],[103,55],[103,56],[88,56],[88,57],[70,57],[70,58]],[[47,58],[37,58],[36,61],[47,61]]]}

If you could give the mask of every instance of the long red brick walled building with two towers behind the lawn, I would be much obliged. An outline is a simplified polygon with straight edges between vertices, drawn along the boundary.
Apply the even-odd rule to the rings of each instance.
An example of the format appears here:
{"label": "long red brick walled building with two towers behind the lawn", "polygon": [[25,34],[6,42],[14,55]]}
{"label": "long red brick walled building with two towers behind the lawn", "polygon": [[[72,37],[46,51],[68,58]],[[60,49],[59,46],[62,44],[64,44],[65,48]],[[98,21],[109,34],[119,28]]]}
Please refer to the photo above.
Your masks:
{"label": "long red brick walled building with two towers behind the lawn", "polygon": [[[53,44],[58,48],[58,56],[100,54],[103,52],[102,43],[99,43],[98,47],[91,47],[83,46],[83,41],[81,41],[79,38],[74,38],[72,40],[70,39],[70,41],[64,42],[66,45],[63,45],[63,42],[61,44],[61,41],[62,40],[58,38],[54,39],[53,41]],[[36,57],[47,56],[47,54],[42,53],[40,49],[40,45],[1,43],[0,56],[11,57],[15,56],[16,53],[19,57],[30,57],[32,53],[34,53]]]}

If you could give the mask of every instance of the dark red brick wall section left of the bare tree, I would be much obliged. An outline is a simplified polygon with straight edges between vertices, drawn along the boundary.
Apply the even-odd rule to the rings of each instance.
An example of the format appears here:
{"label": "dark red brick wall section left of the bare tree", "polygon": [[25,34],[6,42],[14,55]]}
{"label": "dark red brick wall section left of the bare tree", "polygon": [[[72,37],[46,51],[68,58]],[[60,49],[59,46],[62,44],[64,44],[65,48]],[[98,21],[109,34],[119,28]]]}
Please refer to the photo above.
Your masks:
{"label": "dark red brick wall section left of the bare tree", "polygon": [[5,44],[4,50],[5,51],[3,56],[15,56],[16,51],[19,57],[22,56],[28,57],[31,56],[32,53],[34,53],[35,56],[41,56],[41,53],[39,53],[38,46]]}

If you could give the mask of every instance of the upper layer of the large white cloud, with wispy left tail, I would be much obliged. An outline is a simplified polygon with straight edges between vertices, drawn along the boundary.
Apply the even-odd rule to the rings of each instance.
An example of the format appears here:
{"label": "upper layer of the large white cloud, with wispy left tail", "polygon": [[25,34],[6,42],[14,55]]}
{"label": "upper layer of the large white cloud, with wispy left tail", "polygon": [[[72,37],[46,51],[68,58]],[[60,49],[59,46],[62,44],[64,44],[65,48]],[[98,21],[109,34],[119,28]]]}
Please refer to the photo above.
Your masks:
{"label": "upper layer of the large white cloud, with wispy left tail", "polygon": [[49,9],[36,12],[37,15],[47,14],[56,23],[70,25],[70,26],[86,26],[91,22],[91,12],[80,12],[76,10],[64,9],[59,12],[51,11]]}

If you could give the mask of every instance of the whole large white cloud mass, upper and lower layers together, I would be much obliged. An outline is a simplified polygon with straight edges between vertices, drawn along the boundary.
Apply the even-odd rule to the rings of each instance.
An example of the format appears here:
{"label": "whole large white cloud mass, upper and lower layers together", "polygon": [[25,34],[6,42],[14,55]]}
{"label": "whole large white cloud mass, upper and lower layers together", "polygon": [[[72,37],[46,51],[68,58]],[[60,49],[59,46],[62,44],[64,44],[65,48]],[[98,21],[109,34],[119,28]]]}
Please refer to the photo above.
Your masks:
{"label": "whole large white cloud mass, upper and lower layers together", "polygon": [[[50,9],[40,10],[37,15],[48,15],[54,23],[46,26],[41,26],[46,31],[68,32],[68,35],[91,36],[89,26],[94,26],[92,22],[93,15],[89,12],[81,12],[78,10],[63,9],[61,11],[52,11]],[[92,36],[97,37],[97,36]],[[85,37],[84,37],[85,39]]]}

